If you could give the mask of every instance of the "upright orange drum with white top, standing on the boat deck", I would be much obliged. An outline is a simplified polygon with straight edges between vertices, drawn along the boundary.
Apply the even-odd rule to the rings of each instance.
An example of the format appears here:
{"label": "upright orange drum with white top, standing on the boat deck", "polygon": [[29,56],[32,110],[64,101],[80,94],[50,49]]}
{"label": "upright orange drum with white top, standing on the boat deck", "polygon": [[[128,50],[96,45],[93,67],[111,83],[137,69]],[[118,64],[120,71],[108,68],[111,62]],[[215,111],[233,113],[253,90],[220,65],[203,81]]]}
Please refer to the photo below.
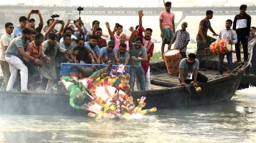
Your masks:
{"label": "upright orange drum with white top, standing on the boat deck", "polygon": [[179,64],[180,64],[180,51],[179,50],[168,50],[164,52],[164,61],[166,68],[170,75],[179,74]]}

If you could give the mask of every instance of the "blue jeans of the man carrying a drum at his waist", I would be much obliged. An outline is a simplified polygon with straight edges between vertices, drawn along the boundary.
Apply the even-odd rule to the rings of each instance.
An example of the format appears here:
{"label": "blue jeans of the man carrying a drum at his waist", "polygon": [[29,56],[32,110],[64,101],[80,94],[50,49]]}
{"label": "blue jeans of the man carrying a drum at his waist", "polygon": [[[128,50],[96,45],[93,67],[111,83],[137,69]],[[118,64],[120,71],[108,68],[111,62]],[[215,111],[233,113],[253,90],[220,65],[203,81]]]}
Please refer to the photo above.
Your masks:
{"label": "blue jeans of the man carrying a drum at his waist", "polygon": [[[234,64],[232,62],[232,51],[228,52],[227,54],[227,60],[228,60],[228,68],[229,70],[234,70]],[[220,75],[223,75],[223,60],[225,55],[220,55],[219,56],[219,61],[218,61],[218,71]]]}

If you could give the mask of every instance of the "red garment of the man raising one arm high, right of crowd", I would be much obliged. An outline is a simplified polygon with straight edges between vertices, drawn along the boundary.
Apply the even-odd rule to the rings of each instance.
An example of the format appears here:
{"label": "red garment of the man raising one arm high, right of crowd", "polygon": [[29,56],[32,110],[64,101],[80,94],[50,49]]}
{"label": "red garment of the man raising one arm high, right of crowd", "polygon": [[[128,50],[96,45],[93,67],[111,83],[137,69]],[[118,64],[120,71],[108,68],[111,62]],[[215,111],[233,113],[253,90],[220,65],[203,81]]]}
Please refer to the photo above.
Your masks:
{"label": "red garment of the man raising one arm high, right of crowd", "polygon": [[[138,36],[140,36],[141,38],[143,38],[143,47],[145,47],[145,49],[147,50],[147,54],[151,54],[153,56],[153,51],[154,51],[154,43],[151,40],[145,40],[144,36],[143,36],[143,29],[139,28],[138,30]],[[144,42],[148,41],[147,45],[144,45]],[[141,62],[141,66],[145,72],[145,74],[148,72],[148,67],[150,66],[150,57],[148,57],[148,61],[142,61]]]}

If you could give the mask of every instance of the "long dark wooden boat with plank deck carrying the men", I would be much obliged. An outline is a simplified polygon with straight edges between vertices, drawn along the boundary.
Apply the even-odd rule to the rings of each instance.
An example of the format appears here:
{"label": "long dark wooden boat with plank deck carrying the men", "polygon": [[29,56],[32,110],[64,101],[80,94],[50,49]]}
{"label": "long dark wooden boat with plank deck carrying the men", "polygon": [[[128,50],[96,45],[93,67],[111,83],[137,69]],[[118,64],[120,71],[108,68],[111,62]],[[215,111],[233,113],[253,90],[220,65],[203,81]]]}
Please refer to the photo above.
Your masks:
{"label": "long dark wooden boat with plank deck carrying the men", "polygon": [[[252,55],[250,56],[252,58]],[[250,58],[250,59],[251,59]],[[216,64],[216,63],[214,63]],[[132,91],[134,99],[147,97],[146,107],[158,109],[170,107],[186,107],[205,105],[230,100],[239,87],[243,78],[243,70],[248,65],[237,67],[236,73],[218,75],[208,62],[206,72],[201,72],[209,79],[206,83],[198,83],[202,87],[196,93],[192,86],[190,89],[179,86],[177,76],[170,76],[163,62],[152,63],[151,86],[148,91]],[[190,91],[190,92],[189,92]],[[0,91],[0,114],[47,114],[47,115],[86,115],[84,110],[74,110],[69,105],[69,96],[64,93],[18,93]]]}

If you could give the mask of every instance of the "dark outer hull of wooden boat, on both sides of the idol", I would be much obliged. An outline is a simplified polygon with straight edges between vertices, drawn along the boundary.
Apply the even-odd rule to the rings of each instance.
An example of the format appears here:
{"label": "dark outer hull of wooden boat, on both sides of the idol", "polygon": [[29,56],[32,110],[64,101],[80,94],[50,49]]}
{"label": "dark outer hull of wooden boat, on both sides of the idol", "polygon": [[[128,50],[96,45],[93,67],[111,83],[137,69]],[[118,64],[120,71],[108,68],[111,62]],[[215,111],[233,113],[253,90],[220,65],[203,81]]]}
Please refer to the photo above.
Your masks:
{"label": "dark outer hull of wooden boat, on both sides of the idol", "polygon": [[[202,92],[191,94],[185,87],[166,87],[149,91],[134,91],[135,99],[146,96],[145,108],[158,109],[170,107],[184,107],[191,105],[204,105],[230,100],[243,77],[243,72],[237,75],[228,75],[220,79],[199,83]],[[154,81],[152,81],[154,82]],[[165,86],[168,86],[166,83]],[[87,114],[84,110],[74,110],[69,105],[68,94],[45,93],[18,93],[0,92],[0,114],[36,114],[36,115],[81,115]]]}

